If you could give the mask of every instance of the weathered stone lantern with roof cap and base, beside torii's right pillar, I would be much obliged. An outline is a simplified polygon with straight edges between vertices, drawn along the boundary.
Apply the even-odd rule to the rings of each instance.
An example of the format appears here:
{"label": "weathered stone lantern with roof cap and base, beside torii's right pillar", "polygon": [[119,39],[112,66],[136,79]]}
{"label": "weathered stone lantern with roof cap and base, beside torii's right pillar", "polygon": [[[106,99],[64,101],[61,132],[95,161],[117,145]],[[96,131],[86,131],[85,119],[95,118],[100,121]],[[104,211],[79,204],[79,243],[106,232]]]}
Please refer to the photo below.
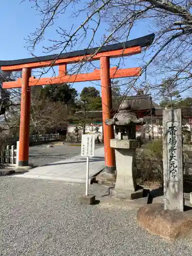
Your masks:
{"label": "weathered stone lantern with roof cap and base, beside torii's right pillar", "polygon": [[140,147],[140,140],[136,139],[136,125],[144,124],[143,118],[131,112],[127,101],[121,104],[119,112],[112,118],[105,120],[106,125],[115,125],[115,139],[110,145],[115,148],[117,178],[115,188],[111,189],[111,196],[119,199],[137,199],[143,197],[143,189],[139,189],[135,177],[136,148]]}

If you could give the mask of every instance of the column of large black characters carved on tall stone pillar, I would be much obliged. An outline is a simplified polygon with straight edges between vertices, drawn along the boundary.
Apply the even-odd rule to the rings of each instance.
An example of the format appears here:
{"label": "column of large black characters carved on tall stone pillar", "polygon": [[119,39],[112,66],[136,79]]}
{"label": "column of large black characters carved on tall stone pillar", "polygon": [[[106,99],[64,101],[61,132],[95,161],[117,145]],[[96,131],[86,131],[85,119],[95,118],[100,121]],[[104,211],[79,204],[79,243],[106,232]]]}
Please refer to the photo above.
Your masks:
{"label": "column of large black characters carved on tall stone pillar", "polygon": [[177,124],[167,123],[167,176],[170,181],[179,181]]}

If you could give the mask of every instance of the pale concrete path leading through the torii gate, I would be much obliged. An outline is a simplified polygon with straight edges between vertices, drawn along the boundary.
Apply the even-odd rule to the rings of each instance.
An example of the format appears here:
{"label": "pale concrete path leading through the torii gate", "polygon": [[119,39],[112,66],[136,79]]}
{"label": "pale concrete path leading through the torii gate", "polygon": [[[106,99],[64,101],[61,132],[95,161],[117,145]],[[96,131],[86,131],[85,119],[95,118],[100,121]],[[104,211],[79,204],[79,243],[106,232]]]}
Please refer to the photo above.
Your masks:
{"label": "pale concrete path leading through the torii gate", "polygon": [[[78,155],[33,168],[25,174],[17,174],[14,177],[86,183],[86,165],[87,158]],[[95,157],[90,158],[90,182],[103,168],[104,147],[101,147],[95,151]]]}

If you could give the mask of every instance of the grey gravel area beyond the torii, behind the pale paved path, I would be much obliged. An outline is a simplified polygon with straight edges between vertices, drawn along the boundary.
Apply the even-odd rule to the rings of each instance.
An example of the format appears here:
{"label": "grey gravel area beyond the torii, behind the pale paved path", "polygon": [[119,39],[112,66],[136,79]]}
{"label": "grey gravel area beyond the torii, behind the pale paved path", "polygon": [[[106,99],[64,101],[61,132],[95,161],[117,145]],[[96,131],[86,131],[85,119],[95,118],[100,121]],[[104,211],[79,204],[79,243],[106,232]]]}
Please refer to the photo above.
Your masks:
{"label": "grey gravel area beyond the torii, behind the pale paved path", "polygon": [[67,143],[49,148],[47,146],[48,144],[31,146],[29,148],[29,164],[40,166],[74,157],[81,152],[80,146],[70,146]]}

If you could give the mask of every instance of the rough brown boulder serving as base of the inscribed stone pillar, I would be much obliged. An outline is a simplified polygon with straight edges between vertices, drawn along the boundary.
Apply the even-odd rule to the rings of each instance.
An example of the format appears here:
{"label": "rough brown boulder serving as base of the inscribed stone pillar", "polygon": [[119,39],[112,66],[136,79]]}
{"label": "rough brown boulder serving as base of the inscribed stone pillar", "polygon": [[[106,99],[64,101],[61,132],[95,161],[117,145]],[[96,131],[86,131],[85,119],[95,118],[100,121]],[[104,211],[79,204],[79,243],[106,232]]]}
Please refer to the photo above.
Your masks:
{"label": "rough brown boulder serving as base of the inscribed stone pillar", "polygon": [[163,204],[148,204],[137,211],[137,221],[152,234],[175,240],[191,231],[192,210],[165,210]]}

